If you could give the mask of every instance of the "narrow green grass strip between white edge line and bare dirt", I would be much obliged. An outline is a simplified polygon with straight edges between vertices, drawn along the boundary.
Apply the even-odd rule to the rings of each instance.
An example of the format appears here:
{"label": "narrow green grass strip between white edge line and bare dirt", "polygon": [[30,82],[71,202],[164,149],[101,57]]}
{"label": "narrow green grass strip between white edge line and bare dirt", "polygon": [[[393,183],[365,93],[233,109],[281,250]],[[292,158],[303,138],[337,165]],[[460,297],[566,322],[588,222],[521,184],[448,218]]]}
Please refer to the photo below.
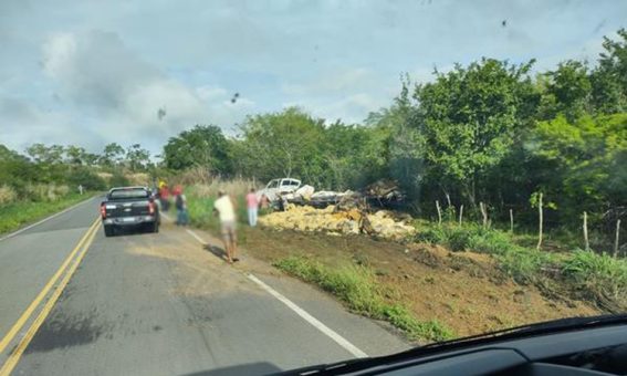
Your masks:
{"label": "narrow green grass strip between white edge line and bare dirt", "polygon": [[387,302],[384,289],[367,267],[331,268],[299,257],[282,259],[274,267],[334,294],[355,313],[389,322],[411,340],[443,341],[454,336],[438,321],[420,321],[404,304]]}

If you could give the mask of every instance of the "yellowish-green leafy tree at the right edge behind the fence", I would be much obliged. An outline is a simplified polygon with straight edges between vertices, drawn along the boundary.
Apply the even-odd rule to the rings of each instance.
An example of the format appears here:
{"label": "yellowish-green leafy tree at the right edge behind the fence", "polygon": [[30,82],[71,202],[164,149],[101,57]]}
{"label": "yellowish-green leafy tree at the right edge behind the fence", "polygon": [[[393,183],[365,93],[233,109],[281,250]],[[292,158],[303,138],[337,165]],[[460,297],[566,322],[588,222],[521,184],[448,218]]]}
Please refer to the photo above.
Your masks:
{"label": "yellowish-green leafy tree at the right edge behind the fence", "polygon": [[627,114],[540,122],[534,145],[565,220],[627,205]]}

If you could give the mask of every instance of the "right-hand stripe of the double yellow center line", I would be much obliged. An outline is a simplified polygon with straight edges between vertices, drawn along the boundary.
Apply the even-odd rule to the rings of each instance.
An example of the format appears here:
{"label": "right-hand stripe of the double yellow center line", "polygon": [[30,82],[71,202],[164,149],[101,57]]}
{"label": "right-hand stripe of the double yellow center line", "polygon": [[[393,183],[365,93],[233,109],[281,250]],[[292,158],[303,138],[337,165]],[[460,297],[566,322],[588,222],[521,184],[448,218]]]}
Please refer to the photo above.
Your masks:
{"label": "right-hand stripe of the double yellow center line", "polygon": [[39,331],[39,328],[45,321],[45,317],[48,317],[48,315],[54,307],[54,304],[59,300],[59,296],[61,296],[61,293],[63,293],[63,290],[65,290],[65,286],[67,285],[67,283],[70,283],[70,279],[72,279],[72,275],[74,275],[74,272],[79,268],[79,264],[81,264],[81,261],[83,261],[85,253],[87,253],[87,250],[90,249],[90,246],[92,244],[92,241],[96,236],[96,230],[98,229],[98,227],[100,227],[100,222],[97,222],[95,229],[90,234],[88,240],[85,242],[83,249],[74,260],[74,263],[72,264],[72,267],[70,267],[67,273],[63,275],[63,279],[59,283],[59,286],[56,288],[56,290],[54,290],[54,292],[50,296],[50,300],[45,302],[45,305],[43,306],[36,318],[31,324],[31,327],[29,327],[29,330],[27,331],[27,334],[24,335],[22,341],[20,341],[15,349],[13,349],[11,355],[9,355],[9,358],[7,359],[2,368],[0,368],[0,376],[9,376],[13,370],[13,368],[18,365],[18,362],[20,362],[22,354],[24,353],[28,345],[31,343],[32,338],[36,334],[36,331]]}

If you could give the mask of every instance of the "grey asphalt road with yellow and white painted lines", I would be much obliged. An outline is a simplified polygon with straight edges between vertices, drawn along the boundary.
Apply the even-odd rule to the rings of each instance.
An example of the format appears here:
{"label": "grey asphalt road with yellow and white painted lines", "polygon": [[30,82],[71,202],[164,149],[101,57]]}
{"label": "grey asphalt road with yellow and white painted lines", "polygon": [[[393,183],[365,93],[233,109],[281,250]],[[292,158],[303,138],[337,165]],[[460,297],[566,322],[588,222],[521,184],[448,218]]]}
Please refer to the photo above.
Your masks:
{"label": "grey asphalt road with yellow and white painted lines", "polygon": [[208,233],[105,238],[97,203],[0,241],[0,375],[255,375],[409,347],[252,257],[226,264]]}

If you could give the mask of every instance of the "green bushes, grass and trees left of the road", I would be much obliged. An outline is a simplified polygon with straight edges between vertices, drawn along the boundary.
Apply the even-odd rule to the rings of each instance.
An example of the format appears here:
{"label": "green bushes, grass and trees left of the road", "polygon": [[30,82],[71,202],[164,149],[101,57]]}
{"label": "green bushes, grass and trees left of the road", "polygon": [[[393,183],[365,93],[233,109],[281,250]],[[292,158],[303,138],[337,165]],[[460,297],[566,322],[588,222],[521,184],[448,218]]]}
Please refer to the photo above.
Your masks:
{"label": "green bushes, grass and trees left of the road", "polygon": [[0,233],[111,186],[147,185],[150,166],[146,153],[138,145],[125,150],[111,144],[103,155],[95,155],[72,145],[33,144],[24,155],[0,145]]}

